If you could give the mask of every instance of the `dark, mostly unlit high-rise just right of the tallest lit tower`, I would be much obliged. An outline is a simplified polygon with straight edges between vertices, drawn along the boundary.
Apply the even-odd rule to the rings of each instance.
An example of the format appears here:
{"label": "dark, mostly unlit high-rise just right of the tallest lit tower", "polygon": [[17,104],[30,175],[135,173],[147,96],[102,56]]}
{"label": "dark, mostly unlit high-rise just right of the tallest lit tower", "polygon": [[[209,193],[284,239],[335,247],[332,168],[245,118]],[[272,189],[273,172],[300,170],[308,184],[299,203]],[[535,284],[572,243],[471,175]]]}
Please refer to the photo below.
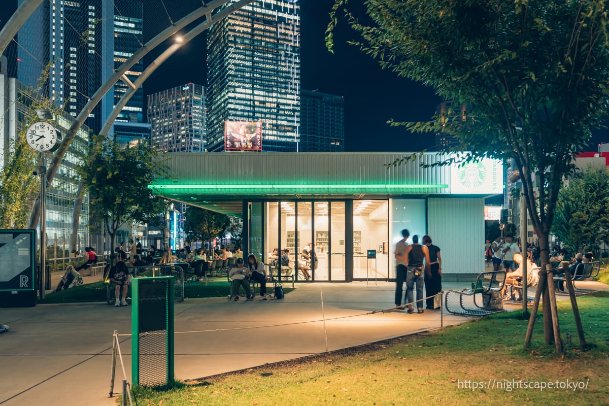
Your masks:
{"label": "dark, mostly unlit high-rise just right of the tallest lit tower", "polygon": [[345,99],[318,91],[300,91],[302,152],[345,150]]}

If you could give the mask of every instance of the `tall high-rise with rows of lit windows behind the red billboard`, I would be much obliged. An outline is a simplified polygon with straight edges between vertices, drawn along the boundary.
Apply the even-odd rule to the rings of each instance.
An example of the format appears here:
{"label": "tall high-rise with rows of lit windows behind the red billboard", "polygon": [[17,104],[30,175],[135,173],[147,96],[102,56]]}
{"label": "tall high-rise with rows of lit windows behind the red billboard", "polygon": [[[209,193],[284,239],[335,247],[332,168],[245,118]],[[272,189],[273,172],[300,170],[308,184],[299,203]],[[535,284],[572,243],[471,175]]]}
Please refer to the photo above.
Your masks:
{"label": "tall high-rise with rows of lit windows behind the red billboard", "polygon": [[246,5],[213,24],[207,41],[208,150],[225,150],[225,122],[241,121],[262,122],[262,151],[295,151],[300,141],[297,0]]}

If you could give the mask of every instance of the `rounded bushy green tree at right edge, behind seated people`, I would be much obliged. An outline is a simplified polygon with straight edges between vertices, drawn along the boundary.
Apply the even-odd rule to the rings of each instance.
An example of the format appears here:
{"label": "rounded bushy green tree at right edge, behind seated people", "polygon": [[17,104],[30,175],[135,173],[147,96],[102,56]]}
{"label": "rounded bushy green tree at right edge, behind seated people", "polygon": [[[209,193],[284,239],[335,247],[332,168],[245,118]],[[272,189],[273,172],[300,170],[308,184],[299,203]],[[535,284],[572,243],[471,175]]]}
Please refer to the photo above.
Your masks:
{"label": "rounded bushy green tree at right edge, behind seated people", "polygon": [[599,250],[609,241],[609,172],[588,166],[561,189],[552,233],[572,252]]}

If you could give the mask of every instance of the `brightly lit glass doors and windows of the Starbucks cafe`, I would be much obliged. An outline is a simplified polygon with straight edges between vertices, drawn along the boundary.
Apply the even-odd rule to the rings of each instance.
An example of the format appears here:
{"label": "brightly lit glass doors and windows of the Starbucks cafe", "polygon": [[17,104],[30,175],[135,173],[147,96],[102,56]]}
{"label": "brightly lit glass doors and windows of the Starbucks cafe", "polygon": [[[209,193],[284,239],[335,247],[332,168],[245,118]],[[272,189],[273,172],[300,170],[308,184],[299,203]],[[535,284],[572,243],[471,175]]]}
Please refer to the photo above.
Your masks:
{"label": "brightly lit glass doors and windows of the Starbucks cafe", "polygon": [[[388,200],[251,201],[245,230],[245,249],[266,263],[273,261],[274,248],[287,248],[297,281],[395,278],[389,252],[383,251],[389,239]],[[378,251],[376,261],[367,259],[367,250]]]}

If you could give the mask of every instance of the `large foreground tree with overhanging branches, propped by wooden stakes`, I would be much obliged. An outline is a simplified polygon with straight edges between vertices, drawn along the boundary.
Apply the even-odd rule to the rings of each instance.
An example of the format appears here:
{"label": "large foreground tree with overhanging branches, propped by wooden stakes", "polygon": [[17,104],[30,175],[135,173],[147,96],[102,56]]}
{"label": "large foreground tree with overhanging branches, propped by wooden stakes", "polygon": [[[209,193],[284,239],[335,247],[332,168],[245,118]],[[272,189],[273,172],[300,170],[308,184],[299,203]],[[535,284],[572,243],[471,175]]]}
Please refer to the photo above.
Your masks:
{"label": "large foreground tree with overhanging branches, propped by wooden stakes", "polygon": [[[326,43],[332,49],[336,0]],[[370,24],[345,10],[359,33],[352,41],[398,76],[432,86],[466,109],[431,122],[402,123],[415,132],[445,131],[463,155],[437,165],[512,158],[527,211],[549,262],[558,191],[574,173],[573,157],[607,117],[608,15],[600,0],[366,0]],[[450,113],[450,112],[449,112]],[[400,164],[412,157],[404,157]],[[551,279],[549,283],[552,284]],[[547,289],[544,321],[551,320]],[[555,303],[552,307],[555,315]],[[544,324],[547,343],[560,337]],[[557,326],[555,331],[558,332]],[[555,340],[554,340],[555,338]]]}

